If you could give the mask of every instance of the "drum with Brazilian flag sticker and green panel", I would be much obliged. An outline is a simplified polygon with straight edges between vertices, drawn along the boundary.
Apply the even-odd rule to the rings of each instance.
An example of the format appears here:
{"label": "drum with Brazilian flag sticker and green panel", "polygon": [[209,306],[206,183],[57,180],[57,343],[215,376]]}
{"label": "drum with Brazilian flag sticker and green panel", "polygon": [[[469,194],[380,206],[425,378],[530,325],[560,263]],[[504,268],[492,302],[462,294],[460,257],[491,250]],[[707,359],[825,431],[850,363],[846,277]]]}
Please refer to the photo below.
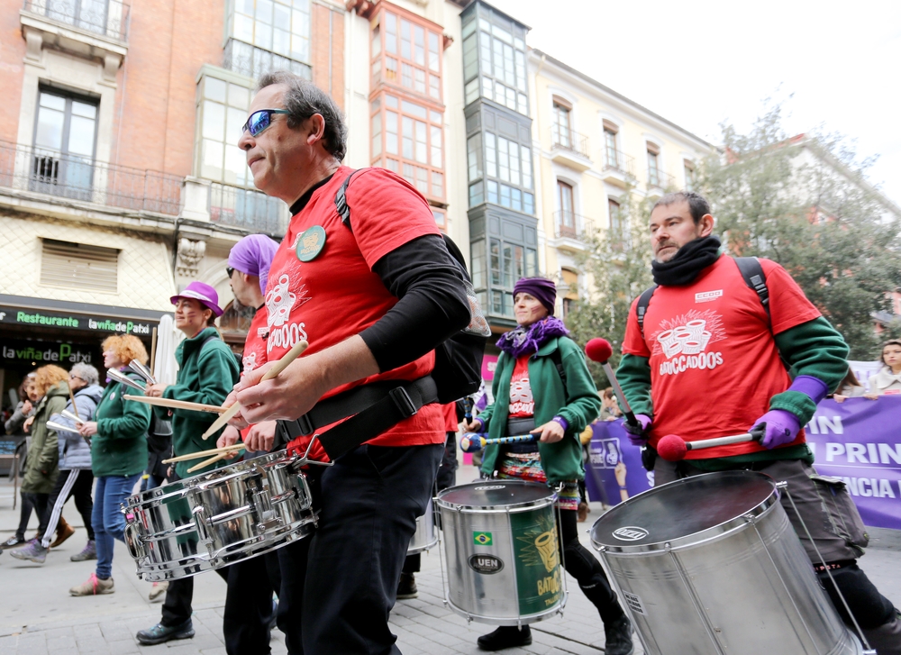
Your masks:
{"label": "drum with Brazilian flag sticker and green panel", "polygon": [[482,480],[443,490],[447,597],[469,621],[534,623],[566,605],[557,495],[522,480]]}

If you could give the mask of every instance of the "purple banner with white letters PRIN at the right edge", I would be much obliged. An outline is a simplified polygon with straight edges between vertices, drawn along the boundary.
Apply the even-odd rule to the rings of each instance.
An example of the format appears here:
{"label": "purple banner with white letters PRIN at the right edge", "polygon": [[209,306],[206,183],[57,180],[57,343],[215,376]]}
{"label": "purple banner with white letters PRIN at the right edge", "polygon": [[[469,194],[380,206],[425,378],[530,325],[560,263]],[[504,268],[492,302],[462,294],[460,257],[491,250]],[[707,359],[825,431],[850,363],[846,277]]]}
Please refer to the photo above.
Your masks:
{"label": "purple banner with white letters PRIN at the right edge", "polygon": [[901,530],[901,396],[824,400],[805,432],[817,473],[844,480],[863,523]]}

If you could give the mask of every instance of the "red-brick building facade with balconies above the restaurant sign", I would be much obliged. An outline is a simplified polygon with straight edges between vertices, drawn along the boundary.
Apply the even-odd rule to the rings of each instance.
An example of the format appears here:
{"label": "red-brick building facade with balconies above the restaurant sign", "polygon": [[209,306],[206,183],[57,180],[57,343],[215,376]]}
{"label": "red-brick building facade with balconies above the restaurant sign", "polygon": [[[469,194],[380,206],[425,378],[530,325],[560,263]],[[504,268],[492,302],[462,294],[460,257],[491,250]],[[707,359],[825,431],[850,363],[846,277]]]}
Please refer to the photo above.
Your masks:
{"label": "red-brick building facade with balconies above the restaurant sign", "polygon": [[342,105],[345,14],[327,0],[0,3],[4,392],[43,363],[99,368],[108,334],[150,347],[194,279],[230,305],[240,348],[228,251],[287,225],[236,145],[254,78],[293,70]]}

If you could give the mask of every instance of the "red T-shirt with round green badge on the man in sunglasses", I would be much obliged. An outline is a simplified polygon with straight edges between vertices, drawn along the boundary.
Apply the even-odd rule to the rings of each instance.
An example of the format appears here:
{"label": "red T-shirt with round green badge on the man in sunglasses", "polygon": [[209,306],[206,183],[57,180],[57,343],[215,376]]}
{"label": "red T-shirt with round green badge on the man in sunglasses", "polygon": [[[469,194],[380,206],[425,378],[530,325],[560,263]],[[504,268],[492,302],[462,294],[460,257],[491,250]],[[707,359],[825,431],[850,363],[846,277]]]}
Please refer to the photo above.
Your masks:
{"label": "red T-shirt with round green badge on the man in sunglasses", "polygon": [[[352,168],[341,167],[291,218],[285,239],[269,269],[266,288],[268,340],[266,359],[279,359],[303,339],[313,354],[359,334],[396,305],[372,267],[388,252],[426,234],[440,234],[425,198],[401,177],[384,168],[359,171],[347,189],[350,228],[341,223],[334,197]],[[310,239],[319,226],[325,241]],[[315,231],[314,231],[315,232]],[[310,243],[307,243],[310,241]],[[313,244],[312,246],[310,244]],[[297,257],[297,246],[305,258]],[[434,351],[404,366],[332,389],[334,396],[377,380],[414,380],[432,372]],[[368,441],[379,446],[443,443],[441,405],[423,406],[414,416]],[[324,431],[322,431],[324,432]]]}

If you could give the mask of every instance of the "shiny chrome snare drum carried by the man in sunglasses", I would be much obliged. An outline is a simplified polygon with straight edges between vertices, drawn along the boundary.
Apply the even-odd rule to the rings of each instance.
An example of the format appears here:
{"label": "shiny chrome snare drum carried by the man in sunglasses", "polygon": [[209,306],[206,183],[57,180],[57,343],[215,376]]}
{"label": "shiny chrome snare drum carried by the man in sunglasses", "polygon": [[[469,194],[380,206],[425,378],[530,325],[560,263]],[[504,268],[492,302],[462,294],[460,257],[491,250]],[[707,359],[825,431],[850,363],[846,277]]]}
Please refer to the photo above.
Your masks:
{"label": "shiny chrome snare drum carried by the man in sunglasses", "polygon": [[313,532],[310,489],[295,462],[280,451],[127,498],[125,545],[138,576],[187,578]]}

